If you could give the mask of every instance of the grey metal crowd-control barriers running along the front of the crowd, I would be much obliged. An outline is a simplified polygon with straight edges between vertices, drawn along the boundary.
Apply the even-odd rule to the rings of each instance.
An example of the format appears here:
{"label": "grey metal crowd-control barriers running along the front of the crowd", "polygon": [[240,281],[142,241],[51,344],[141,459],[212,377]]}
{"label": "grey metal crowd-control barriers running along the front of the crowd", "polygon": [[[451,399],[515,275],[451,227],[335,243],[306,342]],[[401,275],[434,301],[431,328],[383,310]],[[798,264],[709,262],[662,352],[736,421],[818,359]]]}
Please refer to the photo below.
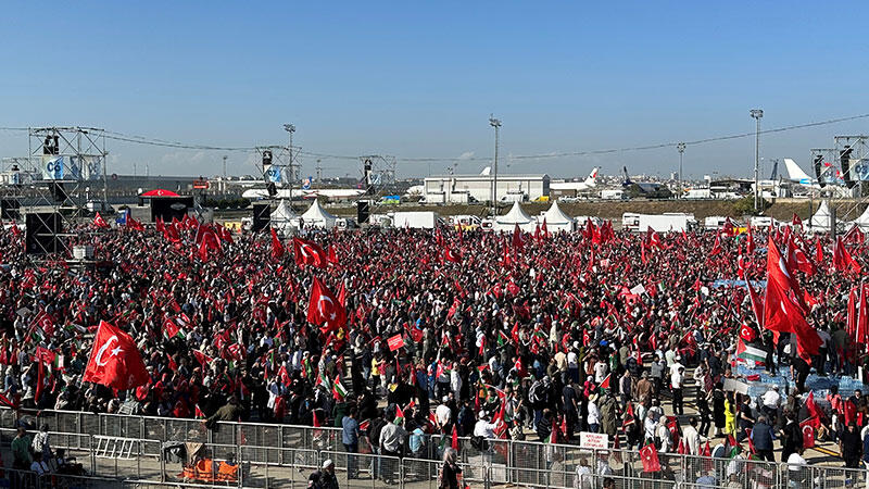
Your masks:
{"label": "grey metal crowd-control barriers running along the front of the crowd", "polygon": [[[21,417],[9,409],[0,409],[0,441],[9,447],[14,436],[16,421]],[[42,411],[29,416],[37,426],[47,424],[52,431],[52,443],[81,454],[95,474],[111,477],[139,478],[166,482],[171,472],[160,466],[163,460],[163,441],[203,443],[221,456],[232,455],[242,466],[249,467],[242,477],[244,487],[284,487],[306,484],[303,471],[313,472],[323,456],[332,457],[347,475],[352,463],[369,478],[351,479],[351,486],[376,487],[380,479],[370,477],[370,461],[377,460],[380,469],[386,461],[386,473],[400,479],[413,477],[420,487],[437,484],[437,473],[443,447],[450,437],[431,436],[420,457],[392,461],[374,453],[367,438],[360,440],[358,453],[349,455],[341,443],[341,428],[310,427],[254,423],[218,423],[217,429],[206,429],[201,419],[176,419],[119,414]],[[99,460],[92,457],[93,436],[139,438],[131,461]],[[827,466],[792,467],[774,462],[745,459],[708,459],[694,455],[662,453],[659,473],[643,473],[637,451],[591,451],[574,444],[552,444],[534,441],[488,440],[487,447],[475,448],[469,439],[459,438],[459,463],[468,467],[466,482],[480,486],[512,484],[537,487],[578,487],[577,471],[594,479],[592,487],[602,487],[602,477],[612,476],[616,487],[805,487],[846,488],[862,486],[869,489],[869,472]],[[156,463],[156,468],[154,463]],[[131,465],[133,464],[133,465]],[[138,464],[138,465],[136,465]],[[247,465],[245,465],[247,464]],[[365,472],[368,467],[368,473]],[[394,468],[398,467],[398,468]],[[584,467],[584,468],[583,468]],[[300,472],[301,471],[301,472]],[[432,475],[433,474],[433,475]],[[600,477],[597,477],[600,476]],[[364,480],[364,482],[362,482]],[[177,482],[176,482],[177,484]],[[584,482],[583,482],[584,484]],[[223,485],[225,486],[225,485]]]}

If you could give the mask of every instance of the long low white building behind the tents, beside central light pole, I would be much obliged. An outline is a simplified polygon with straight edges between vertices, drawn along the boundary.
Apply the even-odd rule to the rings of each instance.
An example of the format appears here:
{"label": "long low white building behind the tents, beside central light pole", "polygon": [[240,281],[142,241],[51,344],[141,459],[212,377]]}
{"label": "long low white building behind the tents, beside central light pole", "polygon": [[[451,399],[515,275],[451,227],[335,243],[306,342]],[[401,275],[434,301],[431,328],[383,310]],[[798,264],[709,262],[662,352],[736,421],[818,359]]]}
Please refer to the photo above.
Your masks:
{"label": "long low white building behind the tents, beside central light pole", "polygon": [[[488,202],[492,198],[492,175],[432,175],[426,177],[423,195],[427,202]],[[534,200],[550,195],[549,175],[499,175],[498,200]]]}

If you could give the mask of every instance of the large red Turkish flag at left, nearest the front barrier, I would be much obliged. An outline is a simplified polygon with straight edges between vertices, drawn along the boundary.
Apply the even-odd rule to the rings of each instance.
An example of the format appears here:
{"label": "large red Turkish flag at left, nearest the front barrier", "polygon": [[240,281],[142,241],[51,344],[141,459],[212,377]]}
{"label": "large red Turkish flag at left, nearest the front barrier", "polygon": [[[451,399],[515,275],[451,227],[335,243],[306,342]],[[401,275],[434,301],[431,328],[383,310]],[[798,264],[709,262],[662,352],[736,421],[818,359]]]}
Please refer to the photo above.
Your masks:
{"label": "large red Turkish flag at left, nearest the front barrier", "polygon": [[150,377],[133,338],[102,321],[83,380],[127,390],[148,384]]}

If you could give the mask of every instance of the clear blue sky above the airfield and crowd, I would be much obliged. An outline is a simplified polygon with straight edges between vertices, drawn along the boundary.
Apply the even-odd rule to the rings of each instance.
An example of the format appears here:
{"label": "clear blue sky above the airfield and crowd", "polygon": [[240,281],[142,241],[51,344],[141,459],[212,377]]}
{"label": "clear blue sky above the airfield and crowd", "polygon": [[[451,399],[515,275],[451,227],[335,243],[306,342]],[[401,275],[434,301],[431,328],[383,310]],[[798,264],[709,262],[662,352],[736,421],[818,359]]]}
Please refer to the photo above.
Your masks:
{"label": "clear blue sky above the airfield and crowd", "polygon": [[[612,4],[615,3],[615,4]],[[89,125],[185,142],[404,158],[624,148],[869,112],[861,2],[5,3],[0,126]],[[846,15],[843,17],[843,15]],[[869,120],[765,136],[802,163]],[[685,173],[747,175],[753,138],[692,147]],[[110,171],[215,174],[223,152],[108,141]],[[0,156],[27,152],[0,131]],[[228,153],[230,173],[252,158]],[[314,158],[302,160],[313,173]],[[327,175],[357,165],[324,159]],[[431,163],[442,172],[448,162]],[[511,172],[667,175],[672,149],[514,161]],[[477,172],[482,161],[459,162]]]}

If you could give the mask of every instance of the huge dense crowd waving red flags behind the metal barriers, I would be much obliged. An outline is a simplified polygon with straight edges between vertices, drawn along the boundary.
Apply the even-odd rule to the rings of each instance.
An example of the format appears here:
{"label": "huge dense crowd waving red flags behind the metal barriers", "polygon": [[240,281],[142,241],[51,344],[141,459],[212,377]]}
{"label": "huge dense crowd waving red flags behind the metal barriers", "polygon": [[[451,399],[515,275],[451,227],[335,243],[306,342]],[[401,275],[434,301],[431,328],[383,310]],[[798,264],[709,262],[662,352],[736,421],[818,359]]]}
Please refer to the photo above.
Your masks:
{"label": "huge dense crowd waving red flags behind the metal barriers", "polygon": [[[365,438],[381,454],[418,453],[432,434],[571,443],[592,431],[621,448],[708,455],[723,444],[798,463],[809,423],[818,439],[840,442],[846,466],[869,460],[865,397],[816,401],[805,391],[810,371],[867,366],[848,323],[859,234],[844,242],[853,262],[843,269],[828,235],[772,233],[820,341],[806,353],[797,335],[759,327],[763,313],[739,281],[755,280],[763,300],[767,229],[582,224],[576,233],[305,229],[301,242],[327,256],[314,261],[292,238],[193,218],[87,226],[71,244],[93,247],[88,267],[25,255],[23,234],[7,228],[0,402],[339,426],[349,451]],[[319,317],[308,306],[315,283],[341,303],[337,321],[310,321]],[[101,322],[130,335],[147,383],[84,381]],[[746,380],[734,367],[744,346],[796,388],[754,399],[725,390],[728,379]]]}

